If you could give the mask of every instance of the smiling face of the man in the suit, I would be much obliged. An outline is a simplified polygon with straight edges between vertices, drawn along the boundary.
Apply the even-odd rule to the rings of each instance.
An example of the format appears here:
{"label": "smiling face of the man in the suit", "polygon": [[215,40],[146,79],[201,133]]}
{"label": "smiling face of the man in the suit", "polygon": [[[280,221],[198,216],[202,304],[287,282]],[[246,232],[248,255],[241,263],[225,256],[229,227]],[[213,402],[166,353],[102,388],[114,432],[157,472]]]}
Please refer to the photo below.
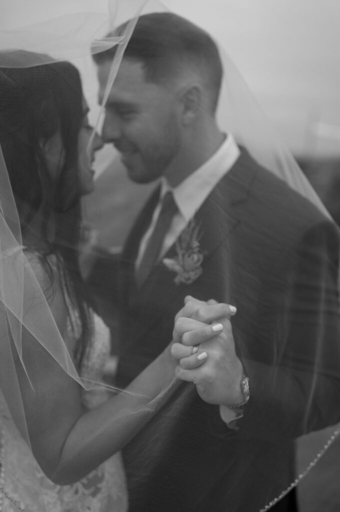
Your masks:
{"label": "smiling face of the man in the suit", "polygon": [[[109,61],[98,66],[100,102],[110,67]],[[148,183],[162,176],[180,148],[173,88],[147,81],[141,62],[123,59],[105,104],[102,138],[120,152],[131,180]]]}

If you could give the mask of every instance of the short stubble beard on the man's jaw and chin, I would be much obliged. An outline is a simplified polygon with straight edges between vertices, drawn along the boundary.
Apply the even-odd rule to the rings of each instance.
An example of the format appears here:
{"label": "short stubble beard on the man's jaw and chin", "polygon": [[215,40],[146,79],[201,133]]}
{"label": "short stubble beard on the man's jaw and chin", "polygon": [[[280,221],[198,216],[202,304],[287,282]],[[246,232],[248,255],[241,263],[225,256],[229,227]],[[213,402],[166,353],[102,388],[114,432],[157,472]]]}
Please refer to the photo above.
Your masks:
{"label": "short stubble beard on the man's jaw and chin", "polygon": [[127,174],[135,183],[150,183],[160,178],[180,150],[176,119],[169,118],[162,131],[152,131],[150,135],[145,143],[115,142]]}

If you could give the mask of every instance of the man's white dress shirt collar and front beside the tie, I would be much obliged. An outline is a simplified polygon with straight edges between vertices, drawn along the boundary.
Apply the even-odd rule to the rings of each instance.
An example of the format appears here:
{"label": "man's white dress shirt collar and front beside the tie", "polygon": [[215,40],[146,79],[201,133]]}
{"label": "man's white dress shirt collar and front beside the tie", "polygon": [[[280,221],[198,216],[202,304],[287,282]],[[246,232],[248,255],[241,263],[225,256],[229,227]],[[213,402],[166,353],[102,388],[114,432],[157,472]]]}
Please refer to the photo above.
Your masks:
{"label": "man's white dress shirt collar and front beside the tie", "polygon": [[158,215],[160,215],[162,201],[167,191],[172,191],[178,207],[178,213],[174,216],[169,231],[166,233],[159,259],[163,258],[190,219],[193,218],[196,211],[205,202],[213,188],[233,167],[239,155],[240,150],[235,139],[229,134],[216,153],[176,187],[172,188],[168,181],[162,178],[160,200],[153,212],[150,226],[141,240],[138,257],[135,262],[136,269],[138,269],[142,261],[145,248],[156,225]]}

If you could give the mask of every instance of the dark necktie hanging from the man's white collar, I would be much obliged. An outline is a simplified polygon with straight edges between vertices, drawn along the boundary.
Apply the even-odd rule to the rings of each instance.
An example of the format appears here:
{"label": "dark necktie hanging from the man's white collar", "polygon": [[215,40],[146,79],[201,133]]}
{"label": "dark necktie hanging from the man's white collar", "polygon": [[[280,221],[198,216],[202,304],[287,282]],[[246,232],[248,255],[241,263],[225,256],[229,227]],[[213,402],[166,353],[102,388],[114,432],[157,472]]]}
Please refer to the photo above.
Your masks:
{"label": "dark necktie hanging from the man's white collar", "polygon": [[172,219],[178,208],[172,192],[167,192],[163,198],[162,208],[151,237],[145,248],[139,269],[137,271],[137,284],[141,286],[149,275],[152,266],[157,262],[161,252],[164,237],[166,236]]}

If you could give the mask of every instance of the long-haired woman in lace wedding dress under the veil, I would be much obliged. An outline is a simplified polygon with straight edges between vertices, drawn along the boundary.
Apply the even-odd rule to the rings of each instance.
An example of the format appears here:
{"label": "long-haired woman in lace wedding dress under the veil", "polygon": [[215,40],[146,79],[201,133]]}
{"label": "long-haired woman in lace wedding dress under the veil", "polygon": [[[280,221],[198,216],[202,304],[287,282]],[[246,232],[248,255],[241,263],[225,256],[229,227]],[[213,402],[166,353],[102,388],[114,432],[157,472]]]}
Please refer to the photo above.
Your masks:
{"label": "long-haired woman in lace wedding dress under the veil", "polygon": [[[39,66],[0,68],[0,510],[123,511],[119,450],[162,402],[175,361],[169,346],[125,392],[100,385],[109,337],[77,246],[80,197],[92,189],[102,143],[77,69],[43,57]],[[207,329],[200,341],[216,334]]]}

